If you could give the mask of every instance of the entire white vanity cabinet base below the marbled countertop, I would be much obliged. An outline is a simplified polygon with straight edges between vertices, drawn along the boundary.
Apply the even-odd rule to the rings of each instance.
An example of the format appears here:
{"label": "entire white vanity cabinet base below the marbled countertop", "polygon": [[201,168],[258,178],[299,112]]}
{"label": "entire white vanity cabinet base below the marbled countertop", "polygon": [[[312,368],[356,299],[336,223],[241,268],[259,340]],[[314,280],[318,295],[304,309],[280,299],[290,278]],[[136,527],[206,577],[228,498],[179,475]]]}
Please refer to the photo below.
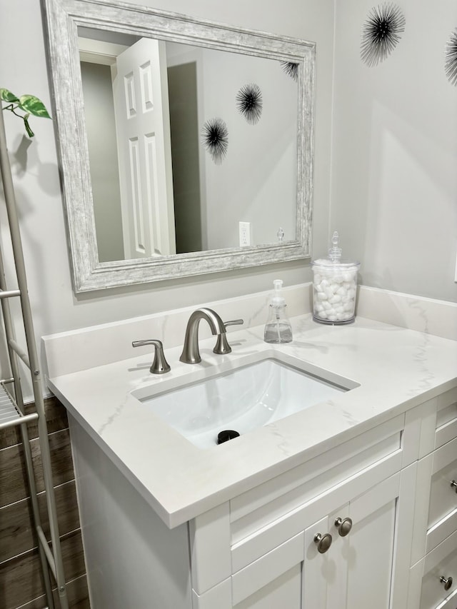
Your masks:
{"label": "entire white vanity cabinet base below the marbled countertop", "polygon": [[316,446],[171,530],[69,419],[93,609],[442,609],[454,598],[440,578],[457,583],[457,388]]}

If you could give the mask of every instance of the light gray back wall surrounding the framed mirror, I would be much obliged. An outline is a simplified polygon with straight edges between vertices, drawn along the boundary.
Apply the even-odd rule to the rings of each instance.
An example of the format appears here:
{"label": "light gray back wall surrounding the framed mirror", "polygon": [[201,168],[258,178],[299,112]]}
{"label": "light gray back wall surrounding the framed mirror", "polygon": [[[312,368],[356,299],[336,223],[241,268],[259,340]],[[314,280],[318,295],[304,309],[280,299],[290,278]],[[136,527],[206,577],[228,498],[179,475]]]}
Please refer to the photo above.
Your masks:
{"label": "light gray back wall surrounding the framed mirror", "polygon": [[[244,0],[142,0],[138,4],[317,42],[313,240],[318,251],[325,250],[330,178],[328,118],[331,114],[333,0],[283,0],[269,4],[268,8],[261,0],[248,3]],[[16,0],[1,11],[0,56],[0,86],[19,95],[31,92],[50,108],[39,0]],[[302,283],[311,277],[308,264],[296,261],[74,296],[53,124],[44,119],[32,120],[36,138],[30,144],[23,138],[21,121],[14,116],[5,119],[37,336],[265,290],[277,276],[283,278],[285,285]],[[4,211],[0,211],[0,222],[4,226]],[[7,258],[8,253],[6,251]],[[236,311],[233,315],[236,316]]]}

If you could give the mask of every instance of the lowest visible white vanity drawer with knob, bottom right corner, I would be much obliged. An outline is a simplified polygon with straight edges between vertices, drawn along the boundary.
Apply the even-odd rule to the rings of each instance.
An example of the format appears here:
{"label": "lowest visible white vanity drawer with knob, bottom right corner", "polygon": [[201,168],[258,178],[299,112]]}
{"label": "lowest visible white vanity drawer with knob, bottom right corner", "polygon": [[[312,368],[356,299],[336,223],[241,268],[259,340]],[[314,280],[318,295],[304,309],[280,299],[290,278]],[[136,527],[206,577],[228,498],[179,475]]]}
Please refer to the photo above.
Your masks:
{"label": "lowest visible white vanity drawer with knob, bottom right corner", "polygon": [[[441,578],[452,578],[448,590],[445,590]],[[424,559],[420,609],[436,609],[447,598],[457,598],[454,596],[456,589],[457,531],[437,545]]]}

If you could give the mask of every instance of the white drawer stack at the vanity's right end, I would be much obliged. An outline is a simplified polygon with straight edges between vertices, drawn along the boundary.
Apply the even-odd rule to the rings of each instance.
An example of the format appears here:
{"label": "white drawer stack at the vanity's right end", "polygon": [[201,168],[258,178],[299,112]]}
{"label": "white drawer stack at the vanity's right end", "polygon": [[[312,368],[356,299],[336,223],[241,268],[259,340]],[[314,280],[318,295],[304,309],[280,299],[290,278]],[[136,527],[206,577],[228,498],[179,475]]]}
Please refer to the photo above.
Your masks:
{"label": "white drawer stack at the vanity's right end", "polygon": [[457,388],[423,410],[408,609],[457,606]]}

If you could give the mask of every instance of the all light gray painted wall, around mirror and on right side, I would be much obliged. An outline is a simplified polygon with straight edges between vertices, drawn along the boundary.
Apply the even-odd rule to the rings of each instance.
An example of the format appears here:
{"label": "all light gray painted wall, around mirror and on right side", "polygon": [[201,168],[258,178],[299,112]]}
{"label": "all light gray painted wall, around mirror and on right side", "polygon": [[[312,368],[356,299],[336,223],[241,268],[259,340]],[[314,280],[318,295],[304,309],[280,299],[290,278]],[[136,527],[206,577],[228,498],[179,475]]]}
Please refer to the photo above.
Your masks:
{"label": "all light gray painted wall, around mirror and on right side", "polygon": [[[358,55],[372,6],[366,0],[283,0],[268,9],[261,0],[141,4],[316,41],[313,256],[326,253],[338,229],[344,254],[361,260],[368,285],[456,300],[457,88],[443,74],[444,45],[457,25],[454,0],[439,10],[403,1],[401,44],[372,69]],[[39,0],[16,0],[3,11],[1,86],[50,106],[40,24]],[[297,261],[74,296],[53,124],[32,119],[29,143],[21,121],[5,119],[38,336],[265,290],[276,276],[285,285],[311,278],[308,262]],[[4,223],[1,208],[1,231]]]}

